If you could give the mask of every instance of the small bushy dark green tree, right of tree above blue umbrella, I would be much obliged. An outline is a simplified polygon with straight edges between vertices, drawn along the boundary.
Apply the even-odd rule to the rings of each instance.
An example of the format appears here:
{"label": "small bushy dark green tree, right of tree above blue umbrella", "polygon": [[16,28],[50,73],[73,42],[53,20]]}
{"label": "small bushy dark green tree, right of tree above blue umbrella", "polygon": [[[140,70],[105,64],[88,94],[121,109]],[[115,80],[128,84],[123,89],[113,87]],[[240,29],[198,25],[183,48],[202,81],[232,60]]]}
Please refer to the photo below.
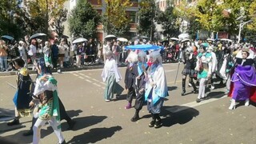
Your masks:
{"label": "small bushy dark green tree, right of tree above blue umbrella", "polygon": [[164,12],[158,13],[156,19],[159,24],[162,24],[163,35],[167,38],[178,37],[179,25],[178,17],[174,14],[174,7],[168,7]]}

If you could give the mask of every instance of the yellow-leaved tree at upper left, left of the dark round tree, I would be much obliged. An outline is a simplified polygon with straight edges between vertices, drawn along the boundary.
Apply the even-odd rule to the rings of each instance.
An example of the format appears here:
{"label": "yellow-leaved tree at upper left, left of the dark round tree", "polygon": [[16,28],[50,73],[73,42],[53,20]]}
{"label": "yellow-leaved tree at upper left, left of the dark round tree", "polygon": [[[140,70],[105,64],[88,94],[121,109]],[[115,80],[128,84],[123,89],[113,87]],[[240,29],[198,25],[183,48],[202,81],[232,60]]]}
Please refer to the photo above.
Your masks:
{"label": "yellow-leaved tree at upper left, left of the dark round tree", "polygon": [[26,22],[28,33],[48,34],[55,27],[62,26],[62,23],[58,22],[66,20],[64,2],[66,0],[27,1],[23,7],[22,18]]}

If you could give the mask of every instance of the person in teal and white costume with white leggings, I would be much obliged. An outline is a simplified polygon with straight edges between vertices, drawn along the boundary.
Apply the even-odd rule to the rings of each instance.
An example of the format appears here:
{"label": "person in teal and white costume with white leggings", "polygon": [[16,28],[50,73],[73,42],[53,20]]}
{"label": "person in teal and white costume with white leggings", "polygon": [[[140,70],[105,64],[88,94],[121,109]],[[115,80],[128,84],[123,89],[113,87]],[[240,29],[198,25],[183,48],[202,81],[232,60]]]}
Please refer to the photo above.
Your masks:
{"label": "person in teal and white costume with white leggings", "polygon": [[195,70],[198,71],[199,90],[196,102],[201,102],[202,98],[205,98],[206,82],[211,78],[213,71],[212,54],[209,51],[206,51],[206,48],[206,45],[201,45],[197,56],[197,65]]}

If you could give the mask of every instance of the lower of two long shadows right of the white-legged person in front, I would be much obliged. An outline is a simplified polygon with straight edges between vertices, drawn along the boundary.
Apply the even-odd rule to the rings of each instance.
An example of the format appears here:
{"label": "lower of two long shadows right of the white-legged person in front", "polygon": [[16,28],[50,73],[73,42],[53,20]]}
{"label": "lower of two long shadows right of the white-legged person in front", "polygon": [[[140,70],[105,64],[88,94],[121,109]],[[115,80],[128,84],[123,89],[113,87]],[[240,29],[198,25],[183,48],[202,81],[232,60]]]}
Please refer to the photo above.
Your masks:
{"label": "lower of two long shadows right of the white-legged person in front", "polygon": [[122,130],[121,126],[94,128],[84,134],[74,136],[67,143],[96,143],[102,139],[111,138],[115,132],[120,130]]}

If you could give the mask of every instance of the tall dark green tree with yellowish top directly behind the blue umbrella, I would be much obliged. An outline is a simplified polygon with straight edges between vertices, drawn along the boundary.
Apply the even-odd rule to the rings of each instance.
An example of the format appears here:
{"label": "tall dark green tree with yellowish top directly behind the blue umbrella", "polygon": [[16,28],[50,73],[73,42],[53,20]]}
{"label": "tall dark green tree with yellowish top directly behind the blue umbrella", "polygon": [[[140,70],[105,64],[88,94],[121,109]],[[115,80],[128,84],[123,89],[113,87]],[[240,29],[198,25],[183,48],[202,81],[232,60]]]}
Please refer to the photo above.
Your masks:
{"label": "tall dark green tree with yellowish top directly behind the blue umbrella", "polygon": [[138,34],[150,36],[152,40],[155,31],[154,20],[156,20],[156,14],[160,14],[160,10],[154,0],[142,0],[139,5],[141,8],[138,11]]}

